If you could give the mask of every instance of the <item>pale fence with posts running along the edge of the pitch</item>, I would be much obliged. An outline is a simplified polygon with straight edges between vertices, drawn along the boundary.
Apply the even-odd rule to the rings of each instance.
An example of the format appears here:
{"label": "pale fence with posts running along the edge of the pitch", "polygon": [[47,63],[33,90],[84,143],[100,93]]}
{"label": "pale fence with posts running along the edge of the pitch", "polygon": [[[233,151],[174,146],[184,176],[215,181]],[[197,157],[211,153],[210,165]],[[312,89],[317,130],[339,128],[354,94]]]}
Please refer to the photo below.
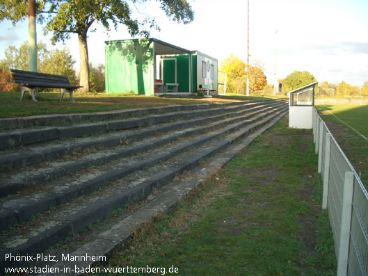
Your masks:
{"label": "pale fence with posts running along the edge of the pitch", "polygon": [[323,178],[322,208],[333,229],[337,275],[368,275],[368,193],[353,166],[313,108],[318,170]]}

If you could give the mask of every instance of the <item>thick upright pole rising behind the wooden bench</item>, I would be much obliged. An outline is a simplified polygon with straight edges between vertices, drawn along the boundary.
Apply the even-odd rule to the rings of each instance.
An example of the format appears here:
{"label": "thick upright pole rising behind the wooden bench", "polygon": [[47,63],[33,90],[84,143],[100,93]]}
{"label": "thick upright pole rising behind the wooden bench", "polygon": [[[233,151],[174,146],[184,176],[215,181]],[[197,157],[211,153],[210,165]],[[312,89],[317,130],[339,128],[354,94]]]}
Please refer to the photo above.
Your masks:
{"label": "thick upright pole rising behind the wooden bench", "polygon": [[37,72],[37,38],[35,32],[35,0],[28,0],[28,70]]}

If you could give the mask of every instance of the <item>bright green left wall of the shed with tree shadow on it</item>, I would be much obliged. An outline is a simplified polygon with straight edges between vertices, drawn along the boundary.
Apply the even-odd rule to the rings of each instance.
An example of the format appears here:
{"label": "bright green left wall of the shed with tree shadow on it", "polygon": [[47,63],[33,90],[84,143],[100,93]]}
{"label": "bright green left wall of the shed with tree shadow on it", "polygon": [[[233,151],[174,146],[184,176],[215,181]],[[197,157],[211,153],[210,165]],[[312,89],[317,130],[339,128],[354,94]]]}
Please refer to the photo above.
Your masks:
{"label": "bright green left wall of the shed with tree shadow on it", "polygon": [[106,93],[154,95],[152,40],[115,40],[105,43]]}

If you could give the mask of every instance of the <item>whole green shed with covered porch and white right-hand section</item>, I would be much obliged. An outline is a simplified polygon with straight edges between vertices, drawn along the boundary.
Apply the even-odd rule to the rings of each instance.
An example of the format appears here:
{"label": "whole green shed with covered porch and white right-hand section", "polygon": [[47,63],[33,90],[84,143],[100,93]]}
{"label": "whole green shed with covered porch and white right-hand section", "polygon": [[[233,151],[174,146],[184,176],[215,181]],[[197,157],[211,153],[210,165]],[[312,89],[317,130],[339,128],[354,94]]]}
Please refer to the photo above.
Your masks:
{"label": "whole green shed with covered porch and white right-hand section", "polygon": [[215,58],[155,38],[105,42],[106,93],[217,91],[217,70]]}

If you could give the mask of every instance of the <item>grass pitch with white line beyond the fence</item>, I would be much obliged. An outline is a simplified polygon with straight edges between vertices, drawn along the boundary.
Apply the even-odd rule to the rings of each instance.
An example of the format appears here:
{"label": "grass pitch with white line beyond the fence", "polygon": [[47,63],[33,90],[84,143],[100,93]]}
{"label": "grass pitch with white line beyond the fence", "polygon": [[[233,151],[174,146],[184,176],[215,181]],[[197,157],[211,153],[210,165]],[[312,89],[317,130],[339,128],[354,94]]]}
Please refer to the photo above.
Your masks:
{"label": "grass pitch with white line beyond the fence", "polygon": [[368,188],[368,140],[362,137],[368,138],[368,106],[319,105],[316,108]]}

